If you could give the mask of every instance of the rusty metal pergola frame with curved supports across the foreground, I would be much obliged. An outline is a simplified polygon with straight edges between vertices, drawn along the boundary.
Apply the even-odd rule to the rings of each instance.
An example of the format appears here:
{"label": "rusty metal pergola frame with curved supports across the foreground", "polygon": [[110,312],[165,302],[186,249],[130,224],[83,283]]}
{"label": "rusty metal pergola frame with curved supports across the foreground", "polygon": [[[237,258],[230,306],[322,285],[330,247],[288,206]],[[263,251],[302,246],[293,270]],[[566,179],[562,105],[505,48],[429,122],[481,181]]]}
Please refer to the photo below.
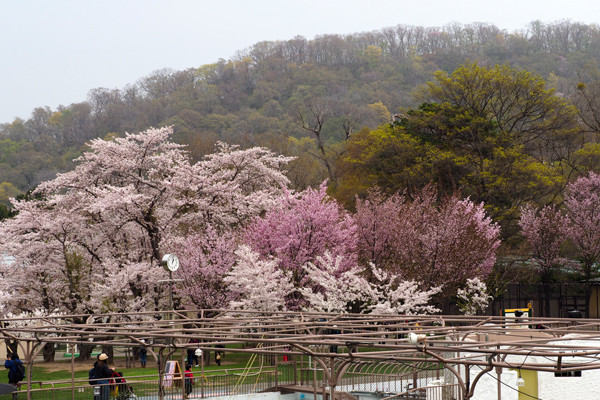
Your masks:
{"label": "rusty metal pergola frame with curved supports across the foreground", "polygon": [[[0,319],[0,338],[19,342],[28,377],[45,343],[132,348],[144,339],[152,343],[159,374],[181,349],[229,345],[228,352],[310,355],[324,371],[330,400],[347,369],[365,361],[441,363],[456,377],[464,399],[494,368],[498,373],[517,367],[555,373],[600,369],[600,319],[185,310]],[[240,343],[257,346],[231,347]],[[330,346],[345,351],[331,353]],[[515,365],[509,357],[522,362]],[[474,366],[481,371],[471,380]]]}

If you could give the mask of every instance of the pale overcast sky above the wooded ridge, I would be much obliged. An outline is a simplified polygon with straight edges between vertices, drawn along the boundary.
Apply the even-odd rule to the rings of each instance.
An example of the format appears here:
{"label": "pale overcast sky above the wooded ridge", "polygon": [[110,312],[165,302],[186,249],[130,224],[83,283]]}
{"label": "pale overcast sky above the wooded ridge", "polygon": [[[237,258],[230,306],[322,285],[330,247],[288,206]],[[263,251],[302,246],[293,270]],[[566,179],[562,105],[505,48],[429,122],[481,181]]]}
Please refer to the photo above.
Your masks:
{"label": "pale overcast sky above the wooded ridge", "polygon": [[0,0],[0,123],[263,40],[396,25],[599,23],[598,0]]}

